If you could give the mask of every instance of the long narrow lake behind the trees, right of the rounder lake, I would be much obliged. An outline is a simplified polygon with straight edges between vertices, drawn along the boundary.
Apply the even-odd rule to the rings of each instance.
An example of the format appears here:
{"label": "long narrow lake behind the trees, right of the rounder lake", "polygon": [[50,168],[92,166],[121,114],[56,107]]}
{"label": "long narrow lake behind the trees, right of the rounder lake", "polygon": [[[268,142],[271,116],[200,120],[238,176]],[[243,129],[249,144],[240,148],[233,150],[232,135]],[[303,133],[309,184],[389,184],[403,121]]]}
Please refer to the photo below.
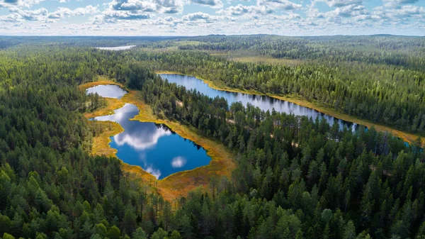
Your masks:
{"label": "long narrow lake behind the trees, right of the rounder lake", "polygon": [[254,106],[258,106],[263,111],[272,111],[274,108],[278,112],[293,113],[296,116],[308,116],[312,118],[325,118],[329,124],[334,124],[334,122],[339,123],[340,128],[346,126],[353,130],[356,129],[357,124],[347,121],[342,121],[339,118],[334,118],[328,116],[327,114],[320,113],[314,109],[310,109],[304,106],[300,106],[288,101],[282,101],[280,99],[275,99],[270,96],[259,96],[255,94],[242,94],[231,91],[222,91],[217,89],[212,89],[205,84],[202,79],[196,77],[190,77],[182,74],[159,74],[163,79],[168,79],[171,83],[176,83],[177,85],[184,86],[186,89],[196,89],[202,94],[205,94],[210,97],[220,96],[227,99],[227,102],[232,104],[233,102],[241,101],[244,106],[247,103],[250,103]]}

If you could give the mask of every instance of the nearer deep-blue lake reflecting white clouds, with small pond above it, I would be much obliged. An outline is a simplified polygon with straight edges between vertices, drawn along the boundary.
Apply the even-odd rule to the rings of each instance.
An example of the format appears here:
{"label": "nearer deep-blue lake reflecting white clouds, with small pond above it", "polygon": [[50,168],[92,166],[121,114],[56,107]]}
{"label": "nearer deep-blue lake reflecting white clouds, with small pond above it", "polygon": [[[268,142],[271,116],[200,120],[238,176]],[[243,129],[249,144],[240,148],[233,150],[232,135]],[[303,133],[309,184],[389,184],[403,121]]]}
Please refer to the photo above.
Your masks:
{"label": "nearer deep-blue lake reflecting white clouds, with small pond above it", "polygon": [[[108,85],[111,88],[108,97],[118,98],[120,87]],[[103,89],[103,87],[101,88]],[[88,92],[94,92],[89,89]],[[105,91],[98,91],[100,96]],[[133,104],[125,104],[114,111],[111,116],[99,116],[96,121],[114,121],[124,128],[123,133],[111,137],[111,148],[118,150],[117,157],[130,165],[139,165],[157,179],[176,172],[195,169],[208,165],[211,158],[207,152],[191,140],[182,138],[162,124],[152,122],[130,121],[139,113]]]}

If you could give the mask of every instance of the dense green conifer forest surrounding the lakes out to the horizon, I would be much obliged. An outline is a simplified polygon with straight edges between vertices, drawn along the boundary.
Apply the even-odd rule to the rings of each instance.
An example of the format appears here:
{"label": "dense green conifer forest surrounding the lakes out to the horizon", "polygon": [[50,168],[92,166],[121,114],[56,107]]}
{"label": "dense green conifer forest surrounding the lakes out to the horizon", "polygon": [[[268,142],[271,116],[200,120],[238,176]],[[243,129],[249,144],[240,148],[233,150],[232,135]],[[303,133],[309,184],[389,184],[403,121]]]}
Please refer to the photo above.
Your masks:
{"label": "dense green conifer forest surrounding the lakes out to the horizon", "polygon": [[[256,38],[279,47],[257,48]],[[205,41],[198,45],[186,44],[186,38],[126,39],[143,48],[116,52],[89,48],[100,45],[97,39],[64,44],[66,38],[1,38],[0,236],[425,238],[425,152],[420,138],[407,145],[374,128],[361,126],[353,133],[326,121],[229,105],[225,99],[170,84],[154,72],[175,70],[229,87],[300,94],[423,134],[424,39],[270,38],[190,39]],[[113,39],[111,45],[115,40],[123,43]],[[336,50],[329,60],[329,54],[303,52],[312,42],[339,50],[348,42],[353,45]],[[382,44],[383,52],[391,54],[366,55],[354,43],[370,48]],[[300,45],[293,47],[296,58],[311,61],[297,67],[258,65],[203,51],[256,48],[264,55],[288,57],[291,44]],[[176,45],[182,49],[158,51]],[[186,50],[188,45],[198,50]],[[318,46],[312,48],[319,52]],[[212,177],[208,189],[170,202],[147,190],[152,185],[128,177],[117,158],[89,155],[98,132],[83,113],[106,103],[78,85],[98,75],[139,90],[140,99],[157,116],[225,144],[234,154],[229,160],[237,162],[232,177]]]}

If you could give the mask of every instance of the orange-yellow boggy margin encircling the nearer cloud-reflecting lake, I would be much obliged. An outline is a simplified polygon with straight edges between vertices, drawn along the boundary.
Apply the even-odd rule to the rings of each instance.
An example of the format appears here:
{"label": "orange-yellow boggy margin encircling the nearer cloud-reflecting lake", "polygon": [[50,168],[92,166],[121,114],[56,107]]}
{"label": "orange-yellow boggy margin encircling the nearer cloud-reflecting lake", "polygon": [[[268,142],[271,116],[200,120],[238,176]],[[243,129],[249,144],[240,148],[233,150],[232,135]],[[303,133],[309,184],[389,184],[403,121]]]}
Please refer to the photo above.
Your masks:
{"label": "orange-yellow boggy margin encircling the nearer cloud-reflecting lake", "polygon": [[[189,191],[197,187],[208,187],[211,177],[230,177],[233,169],[236,167],[232,160],[232,153],[229,152],[224,145],[214,140],[210,140],[196,133],[196,129],[183,126],[181,123],[157,118],[154,115],[151,107],[143,102],[138,96],[137,91],[126,89],[123,84],[113,82],[105,77],[99,77],[97,82],[89,82],[81,84],[79,89],[84,90],[90,87],[95,87],[102,84],[115,84],[128,91],[121,99],[107,99],[107,106],[99,109],[98,111],[87,113],[87,119],[105,114],[112,114],[114,110],[119,109],[125,103],[134,104],[139,109],[139,114],[130,121],[140,122],[154,122],[163,123],[171,128],[174,132],[178,133],[181,137],[193,141],[194,143],[202,146],[207,150],[208,156],[211,157],[210,164],[203,167],[197,167],[165,177],[164,179],[157,180],[152,174],[146,172],[142,167],[137,165],[129,165],[120,159],[123,171],[128,172],[130,177],[140,178],[149,184],[155,184],[159,194],[166,200],[173,201],[180,196],[186,196]],[[105,113],[105,114],[102,114]],[[115,122],[111,121],[96,121],[96,127],[102,127],[103,131],[93,139],[91,154],[93,155],[106,155],[116,157],[117,150],[111,148],[109,143],[110,137],[121,133],[124,129]]]}

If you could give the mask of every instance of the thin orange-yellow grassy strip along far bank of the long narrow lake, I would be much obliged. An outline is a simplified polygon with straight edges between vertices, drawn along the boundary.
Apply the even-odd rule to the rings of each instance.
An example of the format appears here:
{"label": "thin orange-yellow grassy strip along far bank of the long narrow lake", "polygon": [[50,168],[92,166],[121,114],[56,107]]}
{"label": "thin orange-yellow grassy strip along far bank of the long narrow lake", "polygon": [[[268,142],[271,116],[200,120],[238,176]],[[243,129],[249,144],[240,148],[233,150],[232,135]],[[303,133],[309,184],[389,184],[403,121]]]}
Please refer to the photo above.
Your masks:
{"label": "thin orange-yellow grassy strip along far bank of the long narrow lake", "polygon": [[359,125],[363,125],[363,126],[366,126],[368,128],[374,127],[375,130],[378,130],[378,131],[381,131],[381,132],[389,132],[389,133],[391,133],[392,135],[395,135],[398,138],[402,138],[407,143],[412,143],[418,137],[420,137],[419,135],[415,135],[415,134],[412,134],[412,133],[406,133],[406,132],[403,132],[401,130],[391,128],[389,126],[382,126],[378,123],[373,123],[373,122],[370,122],[370,121],[367,121],[367,120],[364,120],[364,119],[361,119],[361,118],[357,118],[356,116],[348,116],[345,113],[335,111],[334,109],[331,109],[327,106],[323,106],[322,104],[317,104],[316,102],[310,102],[310,101],[307,101],[305,99],[302,99],[300,96],[293,96],[293,95],[282,96],[282,95],[276,95],[276,94],[264,94],[264,93],[261,93],[260,91],[255,91],[255,90],[236,89],[236,88],[232,88],[232,87],[226,87],[226,86],[218,85],[215,82],[212,82],[208,79],[203,79],[202,77],[198,77],[198,76],[192,75],[192,74],[183,74],[181,72],[157,71],[156,73],[157,74],[188,75],[188,76],[192,76],[192,77],[196,77],[198,79],[201,79],[203,82],[205,82],[205,84],[208,84],[208,87],[211,87],[212,89],[217,89],[217,90],[220,90],[220,91],[230,91],[230,92],[236,92],[236,93],[242,93],[242,94],[256,94],[256,95],[260,95],[260,96],[270,96],[270,97],[273,97],[275,99],[280,99],[282,101],[292,102],[292,103],[300,105],[300,106],[304,106],[304,107],[307,107],[307,108],[310,108],[310,109],[314,109],[316,111],[319,111],[320,113],[324,113],[324,114],[327,114],[329,116],[339,118],[343,121],[349,121],[349,122],[352,122],[352,123],[357,123]]}

